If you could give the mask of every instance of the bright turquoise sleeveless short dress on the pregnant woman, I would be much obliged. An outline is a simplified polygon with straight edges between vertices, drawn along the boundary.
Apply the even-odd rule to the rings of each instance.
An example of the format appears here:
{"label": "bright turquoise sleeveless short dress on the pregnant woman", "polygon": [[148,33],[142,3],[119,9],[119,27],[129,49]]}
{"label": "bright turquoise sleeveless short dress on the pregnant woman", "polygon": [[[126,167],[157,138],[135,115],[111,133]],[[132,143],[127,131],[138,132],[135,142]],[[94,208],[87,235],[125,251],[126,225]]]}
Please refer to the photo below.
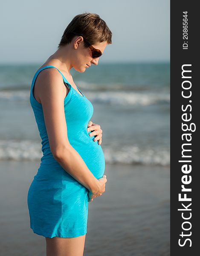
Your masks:
{"label": "bright turquoise sleeveless short dress on the pregnant woman", "polygon": [[[30,228],[34,233],[49,238],[77,237],[87,233],[89,190],[65,171],[50,151],[42,105],[33,96],[35,80],[46,68],[56,67],[40,68],[33,77],[30,90],[30,104],[41,137],[43,152],[38,172],[27,194]],[[61,73],[60,70],[58,71]],[[64,98],[68,140],[88,169],[99,179],[104,175],[104,154],[98,141],[93,140],[95,136],[90,137],[91,131],[87,131],[87,124],[93,115],[93,105],[78,87],[81,95],[62,73],[61,76],[64,83],[70,87]]]}

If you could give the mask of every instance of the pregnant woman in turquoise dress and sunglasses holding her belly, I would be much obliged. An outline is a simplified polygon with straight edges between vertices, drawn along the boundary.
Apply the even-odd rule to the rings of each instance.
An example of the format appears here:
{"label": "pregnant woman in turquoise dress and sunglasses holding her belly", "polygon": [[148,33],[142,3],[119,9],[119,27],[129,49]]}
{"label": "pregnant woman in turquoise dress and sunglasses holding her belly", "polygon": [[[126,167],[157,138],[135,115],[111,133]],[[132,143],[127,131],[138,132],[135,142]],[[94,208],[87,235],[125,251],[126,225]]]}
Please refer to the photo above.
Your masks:
{"label": "pregnant woman in turquoise dress and sunglasses holding her belly", "polygon": [[82,256],[88,202],[105,192],[100,125],[89,121],[93,105],[73,82],[99,57],[112,32],[99,15],[76,15],[58,50],[37,70],[30,103],[41,136],[43,157],[29,187],[30,227],[46,238],[47,256]]}

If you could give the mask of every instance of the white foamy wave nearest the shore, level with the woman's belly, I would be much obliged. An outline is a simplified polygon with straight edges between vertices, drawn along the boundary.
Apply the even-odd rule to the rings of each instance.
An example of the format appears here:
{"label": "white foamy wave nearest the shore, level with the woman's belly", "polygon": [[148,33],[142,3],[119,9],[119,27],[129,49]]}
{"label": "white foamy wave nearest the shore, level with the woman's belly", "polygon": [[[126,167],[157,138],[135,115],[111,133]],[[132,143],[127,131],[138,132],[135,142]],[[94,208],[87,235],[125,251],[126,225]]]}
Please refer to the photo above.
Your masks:
{"label": "white foamy wave nearest the shore, level with the woman's belly", "polygon": [[[106,163],[170,165],[170,153],[166,148],[139,148],[138,146],[105,146]],[[120,148],[116,150],[116,148]],[[0,140],[0,160],[40,160],[41,144],[32,140]]]}

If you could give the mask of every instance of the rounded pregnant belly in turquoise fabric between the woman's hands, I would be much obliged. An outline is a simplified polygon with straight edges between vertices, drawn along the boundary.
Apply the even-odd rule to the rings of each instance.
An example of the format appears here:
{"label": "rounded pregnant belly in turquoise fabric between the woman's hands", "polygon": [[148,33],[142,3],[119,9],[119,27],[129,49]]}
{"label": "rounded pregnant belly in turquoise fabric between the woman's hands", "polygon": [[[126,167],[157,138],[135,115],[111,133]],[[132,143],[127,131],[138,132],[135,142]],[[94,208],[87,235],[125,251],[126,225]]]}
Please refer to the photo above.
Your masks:
{"label": "rounded pregnant belly in turquoise fabric between the woman's hands", "polygon": [[94,141],[94,138],[95,136],[90,137],[89,133],[83,133],[79,137],[76,135],[70,144],[80,154],[88,169],[99,179],[104,175],[105,158],[101,145]]}

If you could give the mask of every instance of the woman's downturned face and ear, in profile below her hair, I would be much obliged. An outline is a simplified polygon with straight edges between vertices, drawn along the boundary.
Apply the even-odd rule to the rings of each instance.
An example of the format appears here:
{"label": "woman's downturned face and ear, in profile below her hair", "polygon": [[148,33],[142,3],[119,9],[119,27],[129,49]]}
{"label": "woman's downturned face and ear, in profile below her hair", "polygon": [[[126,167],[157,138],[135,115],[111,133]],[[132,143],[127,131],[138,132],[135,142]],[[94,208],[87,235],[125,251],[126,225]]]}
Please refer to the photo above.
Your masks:
{"label": "woman's downturned face and ear, in profile below her hair", "polygon": [[[101,58],[101,56],[99,58],[93,58],[90,48],[84,48],[84,41],[81,36],[76,36],[72,42],[73,49],[75,50],[73,68],[76,71],[83,73],[87,68],[89,68],[88,66],[93,64],[98,65],[99,58]],[[92,44],[92,46],[96,49],[99,49],[103,55],[104,49],[107,46],[107,41],[99,44]]]}

